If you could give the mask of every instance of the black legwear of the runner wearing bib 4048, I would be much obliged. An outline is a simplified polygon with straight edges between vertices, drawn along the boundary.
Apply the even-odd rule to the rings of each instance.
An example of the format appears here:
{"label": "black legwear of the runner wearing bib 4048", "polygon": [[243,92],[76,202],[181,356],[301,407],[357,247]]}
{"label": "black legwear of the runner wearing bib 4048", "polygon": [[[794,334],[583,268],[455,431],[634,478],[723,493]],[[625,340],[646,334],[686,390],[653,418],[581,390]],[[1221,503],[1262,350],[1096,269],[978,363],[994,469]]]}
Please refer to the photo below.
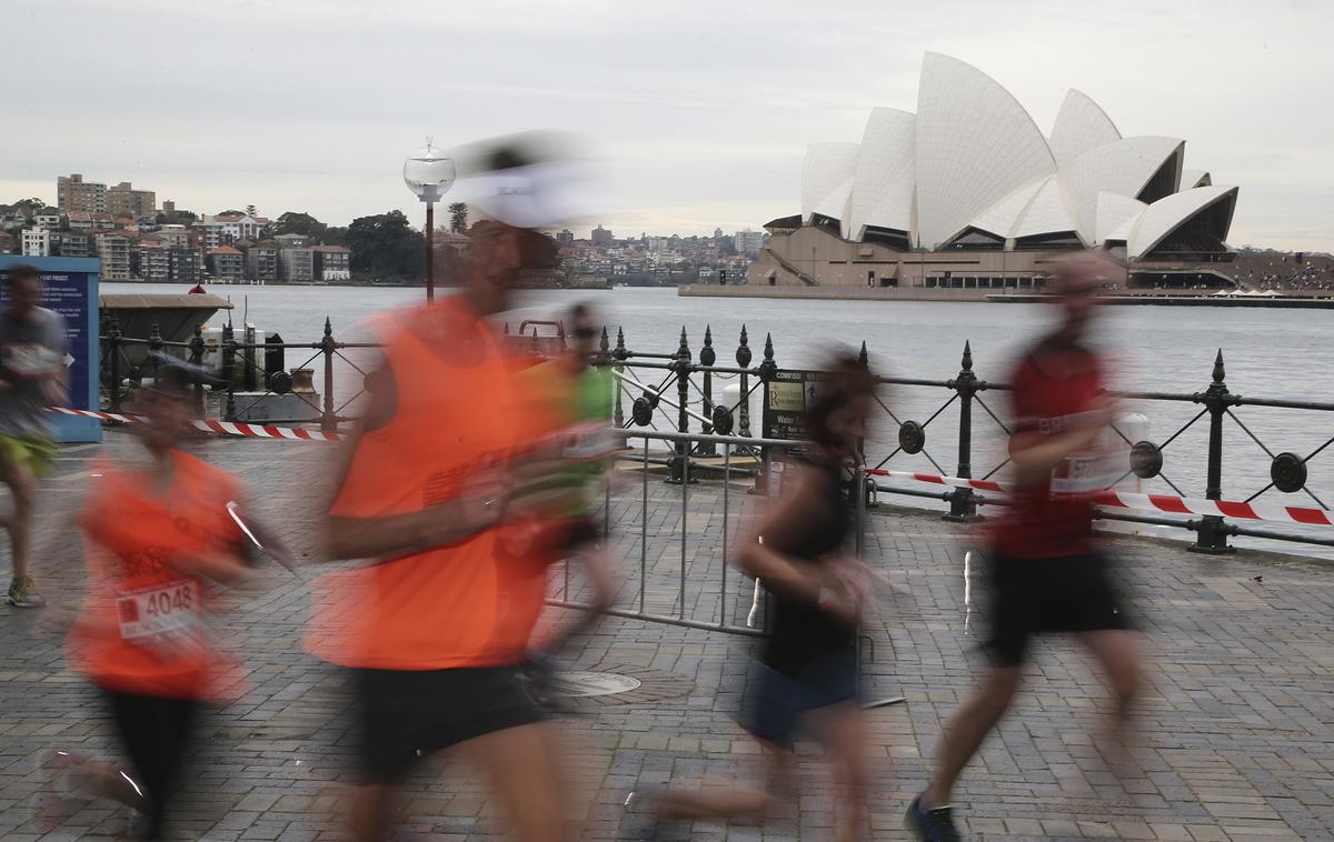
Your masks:
{"label": "black legwear of the runner wearing bib 4048", "polygon": [[145,790],[145,837],[161,834],[167,802],[180,785],[199,702],[104,690],[111,715],[133,765],[135,783]]}

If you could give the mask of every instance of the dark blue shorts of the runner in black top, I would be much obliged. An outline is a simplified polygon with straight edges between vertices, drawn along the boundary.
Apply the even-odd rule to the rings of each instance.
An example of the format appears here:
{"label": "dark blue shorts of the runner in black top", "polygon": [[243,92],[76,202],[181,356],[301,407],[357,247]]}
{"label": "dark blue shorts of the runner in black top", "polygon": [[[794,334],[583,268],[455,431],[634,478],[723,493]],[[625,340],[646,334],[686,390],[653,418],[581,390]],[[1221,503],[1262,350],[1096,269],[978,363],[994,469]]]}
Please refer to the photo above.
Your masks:
{"label": "dark blue shorts of the runner in black top", "polygon": [[856,651],[831,653],[788,675],[759,661],[751,662],[751,686],[742,722],[747,731],[790,747],[812,710],[856,699]]}

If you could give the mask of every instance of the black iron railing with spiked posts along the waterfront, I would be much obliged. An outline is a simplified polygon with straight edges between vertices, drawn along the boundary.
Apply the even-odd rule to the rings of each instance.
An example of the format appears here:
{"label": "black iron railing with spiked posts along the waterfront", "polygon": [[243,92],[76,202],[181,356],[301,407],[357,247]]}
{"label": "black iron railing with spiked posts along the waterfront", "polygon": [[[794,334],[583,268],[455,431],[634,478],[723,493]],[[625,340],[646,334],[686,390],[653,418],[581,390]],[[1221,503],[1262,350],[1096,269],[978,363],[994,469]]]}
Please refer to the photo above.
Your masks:
{"label": "black iron railing with spiked posts along the waterfront", "polygon": [[[506,332],[508,333],[508,330]],[[564,340],[563,336],[555,338],[559,340],[558,344]],[[205,341],[199,329],[187,342],[164,341],[157,334],[156,326],[148,338],[129,338],[121,336],[115,318],[108,317],[103,324],[101,340],[104,400],[112,412],[121,410],[127,396],[127,382],[132,388],[137,380],[152,377],[152,362],[132,365],[127,358],[128,349],[143,348],[173,353],[196,364],[205,358]],[[316,342],[245,341],[244,337],[239,340],[231,326],[224,328],[217,346],[220,361],[217,374],[227,386],[225,394],[219,398],[219,412],[225,421],[245,420],[248,410],[267,396],[296,394],[309,410],[304,417],[268,417],[265,420],[288,424],[317,422],[324,430],[338,430],[342,424],[354,420],[350,409],[366,393],[367,372],[348,352],[372,348],[376,348],[374,342],[343,342],[335,338],[332,325],[327,318],[324,336]],[[317,401],[308,392],[293,392],[293,380],[287,370],[289,366],[285,365],[288,350],[308,352],[297,366],[291,366],[293,370],[308,369],[319,361],[323,374],[323,393]],[[768,334],[764,337],[760,361],[752,365],[750,336],[744,326],[740,329],[732,357],[735,365],[719,365],[719,352],[715,348],[715,337],[710,326],[704,329],[703,345],[698,357],[691,349],[684,326],[676,349],[670,353],[634,350],[626,344],[624,332],[620,329],[616,330],[616,340],[612,344],[607,329],[603,329],[596,362],[607,366],[614,374],[614,424],[618,428],[678,434],[655,440],[666,449],[650,450],[646,446],[642,453],[631,453],[630,458],[642,460],[646,464],[663,464],[668,468],[667,480],[670,482],[686,482],[690,478],[718,473],[720,468],[715,464],[719,453],[718,437],[734,437],[738,444],[727,448],[730,462],[727,476],[750,474],[763,481],[763,461],[768,454],[752,442],[762,440],[768,432],[767,418],[764,418],[767,404],[762,398],[768,384],[775,382],[784,369],[779,368],[774,341]],[[862,344],[862,360],[867,361],[864,342]],[[346,368],[336,377],[339,366]],[[313,374],[313,369],[311,373]],[[354,382],[350,384],[348,377]],[[738,384],[739,394],[734,405],[724,405],[718,400],[719,386],[724,382]],[[924,462],[938,474],[987,480],[995,477],[1009,465],[1003,441],[1010,429],[1002,413],[988,400],[990,393],[1005,392],[1009,386],[976,374],[972,349],[967,341],[963,345],[959,369],[952,376],[942,378],[882,377],[880,382],[888,386],[895,396],[888,401],[879,401],[879,410],[883,413],[883,418],[892,422],[894,432],[891,437],[871,438],[864,442],[864,468],[876,470],[911,462],[914,465],[911,469],[916,470],[924,466]],[[339,388],[350,396],[336,400],[335,390]],[[908,417],[910,413],[903,409],[904,404],[912,404],[912,401],[898,400],[907,390],[919,396],[916,408],[922,409],[922,414],[916,417],[924,420],[918,421]],[[930,397],[940,393],[944,396],[943,400]],[[1334,413],[1334,402],[1258,398],[1234,392],[1226,382],[1221,350],[1215,356],[1209,382],[1202,390],[1182,393],[1117,392],[1115,396],[1135,404],[1191,408],[1193,412],[1189,413],[1189,420],[1177,426],[1174,432],[1157,440],[1139,440],[1133,432],[1114,425],[1113,429],[1130,446],[1131,460],[1125,466],[1121,480],[1113,485],[1135,477],[1139,481],[1161,484],[1163,492],[1191,497],[1183,488],[1191,484],[1174,480],[1165,470],[1165,464],[1169,448],[1171,448],[1171,454],[1177,454],[1194,441],[1202,445],[1203,470],[1191,469],[1190,473],[1194,476],[1202,473],[1205,477],[1202,494],[1195,494],[1197,497],[1251,502],[1266,494],[1270,497],[1302,494],[1315,506],[1329,508],[1325,498],[1309,484],[1309,466],[1315,457],[1334,444],[1334,414],[1329,414]],[[922,405],[920,397],[927,398],[926,405]],[[203,410],[204,392],[201,389],[197,393],[197,400],[200,410]],[[752,402],[759,402],[760,408],[756,409]],[[1195,408],[1198,410],[1194,410]],[[1306,448],[1305,454],[1275,452],[1277,449],[1266,444],[1262,436],[1241,417],[1243,408],[1311,413],[1309,422],[1302,428],[1314,433],[1318,444]],[[975,416],[975,409],[980,409],[982,414]],[[1203,441],[1198,441],[1201,436],[1195,428],[1206,416],[1207,432],[1203,434]],[[932,448],[936,446],[936,429],[950,421],[952,421],[954,429],[947,430],[940,441],[943,448],[952,449],[952,454],[932,453]],[[984,429],[979,429],[975,421],[980,421]],[[752,428],[756,422],[760,430],[752,438]],[[1261,476],[1261,462],[1254,461],[1253,465],[1257,470],[1253,474],[1258,478],[1254,480],[1254,490],[1246,494],[1231,492],[1225,497],[1225,429],[1242,433],[1245,441],[1257,446],[1269,460],[1267,477]],[[692,432],[696,434],[683,436]],[[1187,456],[1182,456],[1183,464]],[[988,469],[978,469],[979,457],[982,460],[991,458]],[[947,465],[952,465],[952,468],[947,468]],[[1175,470],[1175,461],[1171,468]],[[1231,488],[1242,488],[1239,482],[1241,480],[1234,482]],[[939,500],[946,504],[947,509],[943,514],[950,520],[971,520],[978,517],[979,506],[1005,504],[1003,497],[983,496],[970,488],[939,490],[939,486],[935,486],[928,490],[920,485],[872,480],[870,476],[866,478],[866,486],[871,493]],[[1162,517],[1105,510],[1101,517],[1133,524],[1189,529],[1194,533],[1191,549],[1203,553],[1231,552],[1229,538],[1233,536],[1334,546],[1334,530],[1254,529],[1245,522],[1213,514]]]}

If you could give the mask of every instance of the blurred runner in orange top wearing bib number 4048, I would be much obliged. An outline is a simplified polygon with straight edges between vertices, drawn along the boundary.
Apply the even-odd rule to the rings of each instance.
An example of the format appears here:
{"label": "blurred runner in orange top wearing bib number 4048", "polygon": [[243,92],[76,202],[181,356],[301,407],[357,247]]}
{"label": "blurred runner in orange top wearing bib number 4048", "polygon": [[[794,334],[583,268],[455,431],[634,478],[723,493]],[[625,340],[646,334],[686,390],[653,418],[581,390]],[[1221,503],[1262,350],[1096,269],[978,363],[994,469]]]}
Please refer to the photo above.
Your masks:
{"label": "blurred runner in orange top wearing bib number 4048", "polygon": [[191,388],[204,377],[175,361],[159,368],[140,396],[147,421],[132,428],[148,458],[96,464],[80,517],[88,588],[69,658],[105,697],[131,763],[68,751],[44,758],[67,791],[139,811],[147,839],[163,833],[200,702],[239,685],[205,617],[211,585],[245,572],[247,537],[233,517],[240,484],[179,449],[193,434]]}

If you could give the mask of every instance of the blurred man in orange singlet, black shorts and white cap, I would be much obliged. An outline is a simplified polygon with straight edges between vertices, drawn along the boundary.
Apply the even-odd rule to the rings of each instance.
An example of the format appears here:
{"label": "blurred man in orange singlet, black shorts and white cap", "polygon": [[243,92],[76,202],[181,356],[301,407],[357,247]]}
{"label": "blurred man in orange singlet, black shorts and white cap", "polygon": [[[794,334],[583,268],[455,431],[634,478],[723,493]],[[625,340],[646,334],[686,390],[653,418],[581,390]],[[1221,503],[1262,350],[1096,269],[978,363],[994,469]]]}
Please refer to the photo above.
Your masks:
{"label": "blurred man in orange singlet, black shorts and white cap", "polygon": [[467,152],[498,173],[496,201],[472,201],[490,218],[470,232],[458,294],[376,320],[383,362],[327,518],[329,554],[372,564],[324,577],[307,638],[354,674],[358,839],[383,838],[395,783],[450,746],[486,773],[518,838],[572,838],[556,733],[519,681],[556,560],[550,513],[568,494],[543,466],[559,420],[486,321],[522,269],[551,265],[530,225],[558,220],[526,177],[531,144]]}

